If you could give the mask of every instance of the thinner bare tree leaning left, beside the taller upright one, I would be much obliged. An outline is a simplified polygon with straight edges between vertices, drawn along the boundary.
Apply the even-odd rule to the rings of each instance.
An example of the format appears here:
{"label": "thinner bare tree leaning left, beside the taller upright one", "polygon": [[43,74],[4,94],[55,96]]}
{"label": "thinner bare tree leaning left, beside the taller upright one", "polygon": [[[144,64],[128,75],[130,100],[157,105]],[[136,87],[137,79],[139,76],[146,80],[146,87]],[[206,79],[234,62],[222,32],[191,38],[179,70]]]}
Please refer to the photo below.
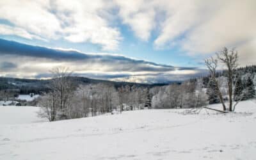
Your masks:
{"label": "thinner bare tree leaning left, beside the taller upright one", "polygon": [[205,66],[208,68],[212,81],[216,84],[216,92],[220,98],[220,102],[223,106],[223,110],[226,111],[226,106],[222,97],[222,93],[220,91],[220,87],[218,84],[218,80],[216,79],[216,68],[218,67],[218,60],[214,59],[213,57],[205,60]]}

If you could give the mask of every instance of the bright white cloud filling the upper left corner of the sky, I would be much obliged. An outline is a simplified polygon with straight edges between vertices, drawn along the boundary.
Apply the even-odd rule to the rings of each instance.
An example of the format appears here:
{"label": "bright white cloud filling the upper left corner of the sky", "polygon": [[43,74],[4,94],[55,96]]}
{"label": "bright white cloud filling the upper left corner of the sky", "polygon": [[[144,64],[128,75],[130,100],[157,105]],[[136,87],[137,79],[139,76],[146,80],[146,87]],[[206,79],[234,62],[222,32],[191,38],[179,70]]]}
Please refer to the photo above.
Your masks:
{"label": "bright white cloud filling the upper left corner of the sky", "polygon": [[56,38],[60,22],[49,12],[49,1],[1,1],[0,18],[35,35]]}

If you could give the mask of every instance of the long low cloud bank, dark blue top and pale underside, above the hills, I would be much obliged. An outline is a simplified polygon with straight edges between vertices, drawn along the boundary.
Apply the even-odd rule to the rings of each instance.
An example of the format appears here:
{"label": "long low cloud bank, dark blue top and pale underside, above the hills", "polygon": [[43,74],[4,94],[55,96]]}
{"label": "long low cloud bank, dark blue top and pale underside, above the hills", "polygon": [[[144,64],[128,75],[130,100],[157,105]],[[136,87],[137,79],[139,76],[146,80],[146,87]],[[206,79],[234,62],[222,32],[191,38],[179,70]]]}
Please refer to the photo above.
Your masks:
{"label": "long low cloud bank, dark blue top and pale underside, above the hills", "polygon": [[[4,64],[0,70],[1,76],[26,78],[49,78],[49,70],[53,67],[69,67],[74,76],[140,83],[184,80],[191,75],[202,74],[202,70],[197,68],[161,65],[117,54],[49,49],[3,39],[0,39],[0,64]],[[15,70],[8,67],[15,67]],[[164,79],[160,80],[161,77]]]}

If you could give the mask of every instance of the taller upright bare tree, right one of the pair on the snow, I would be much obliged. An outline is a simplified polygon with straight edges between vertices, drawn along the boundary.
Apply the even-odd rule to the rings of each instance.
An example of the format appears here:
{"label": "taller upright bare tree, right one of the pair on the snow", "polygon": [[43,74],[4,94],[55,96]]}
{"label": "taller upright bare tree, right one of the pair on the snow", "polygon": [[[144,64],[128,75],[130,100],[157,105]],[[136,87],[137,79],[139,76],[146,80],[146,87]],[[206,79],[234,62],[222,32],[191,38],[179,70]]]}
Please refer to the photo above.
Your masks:
{"label": "taller upright bare tree, right one of the pair on the snow", "polygon": [[229,97],[229,111],[233,111],[233,79],[236,68],[238,67],[238,55],[235,49],[228,51],[227,47],[224,47],[218,54],[218,59],[227,67],[228,72],[228,97]]}

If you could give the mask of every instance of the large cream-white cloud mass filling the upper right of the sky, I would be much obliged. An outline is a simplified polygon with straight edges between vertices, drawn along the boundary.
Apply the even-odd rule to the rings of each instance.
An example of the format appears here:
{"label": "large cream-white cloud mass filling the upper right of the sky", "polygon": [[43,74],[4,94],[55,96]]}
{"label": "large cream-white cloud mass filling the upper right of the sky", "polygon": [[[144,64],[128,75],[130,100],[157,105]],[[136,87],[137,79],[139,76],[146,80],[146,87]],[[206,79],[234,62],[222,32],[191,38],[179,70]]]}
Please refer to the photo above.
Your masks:
{"label": "large cream-white cloud mass filling the upper right of the sky", "polygon": [[178,47],[189,56],[209,56],[222,47],[236,47],[241,65],[256,62],[252,60],[256,52],[252,45],[256,40],[256,1],[140,0],[116,4],[122,22],[134,35],[141,40],[156,35],[155,49]]}

